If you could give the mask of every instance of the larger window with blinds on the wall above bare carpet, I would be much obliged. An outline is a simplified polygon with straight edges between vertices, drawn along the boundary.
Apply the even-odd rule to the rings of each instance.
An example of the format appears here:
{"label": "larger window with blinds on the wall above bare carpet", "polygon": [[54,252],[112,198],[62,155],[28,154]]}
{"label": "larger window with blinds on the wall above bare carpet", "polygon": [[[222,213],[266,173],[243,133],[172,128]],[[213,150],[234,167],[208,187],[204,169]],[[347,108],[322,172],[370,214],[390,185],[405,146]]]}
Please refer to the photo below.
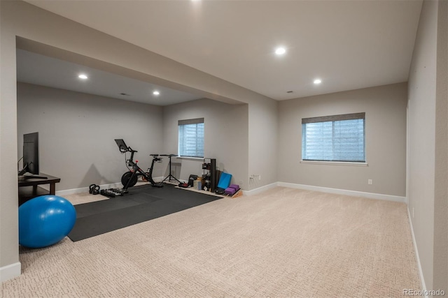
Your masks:
{"label": "larger window with blinds on the wall above bare carpet", "polygon": [[365,162],[365,113],[302,119],[302,160]]}

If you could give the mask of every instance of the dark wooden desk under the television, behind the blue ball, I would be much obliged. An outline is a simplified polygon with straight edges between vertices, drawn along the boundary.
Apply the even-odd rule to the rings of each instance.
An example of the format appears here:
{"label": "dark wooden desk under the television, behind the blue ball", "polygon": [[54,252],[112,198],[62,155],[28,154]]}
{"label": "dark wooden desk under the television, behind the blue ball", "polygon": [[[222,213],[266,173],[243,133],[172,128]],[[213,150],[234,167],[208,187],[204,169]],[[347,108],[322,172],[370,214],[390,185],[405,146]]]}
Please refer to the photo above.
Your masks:
{"label": "dark wooden desk under the television, behind the blue ball", "polygon": [[[48,179],[19,177],[19,206],[27,202],[27,200],[36,198],[39,195],[55,195],[56,184],[59,183],[61,179],[43,173],[38,174],[38,176],[48,177]],[[44,184],[50,184],[50,191],[38,187],[39,185]]]}

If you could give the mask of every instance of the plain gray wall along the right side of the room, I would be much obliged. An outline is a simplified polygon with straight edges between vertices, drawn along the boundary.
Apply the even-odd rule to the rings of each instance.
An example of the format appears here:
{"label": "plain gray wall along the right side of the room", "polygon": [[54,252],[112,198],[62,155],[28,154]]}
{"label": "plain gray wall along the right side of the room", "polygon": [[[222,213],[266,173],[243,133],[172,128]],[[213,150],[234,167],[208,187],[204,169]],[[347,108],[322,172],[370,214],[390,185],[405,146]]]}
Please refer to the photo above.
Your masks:
{"label": "plain gray wall along the right side of the room", "polygon": [[424,1],[409,71],[409,214],[428,290],[448,290],[447,3]]}

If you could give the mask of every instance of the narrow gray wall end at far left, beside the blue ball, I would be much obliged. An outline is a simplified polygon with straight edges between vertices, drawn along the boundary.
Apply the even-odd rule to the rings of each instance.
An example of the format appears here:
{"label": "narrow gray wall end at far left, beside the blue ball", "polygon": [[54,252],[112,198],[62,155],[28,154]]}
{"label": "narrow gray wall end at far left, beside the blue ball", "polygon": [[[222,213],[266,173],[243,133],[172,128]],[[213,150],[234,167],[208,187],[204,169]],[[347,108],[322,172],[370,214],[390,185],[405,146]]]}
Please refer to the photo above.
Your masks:
{"label": "narrow gray wall end at far left, beside the blue ball", "polygon": [[0,1],[0,267],[19,262],[15,34],[5,25],[4,2]]}

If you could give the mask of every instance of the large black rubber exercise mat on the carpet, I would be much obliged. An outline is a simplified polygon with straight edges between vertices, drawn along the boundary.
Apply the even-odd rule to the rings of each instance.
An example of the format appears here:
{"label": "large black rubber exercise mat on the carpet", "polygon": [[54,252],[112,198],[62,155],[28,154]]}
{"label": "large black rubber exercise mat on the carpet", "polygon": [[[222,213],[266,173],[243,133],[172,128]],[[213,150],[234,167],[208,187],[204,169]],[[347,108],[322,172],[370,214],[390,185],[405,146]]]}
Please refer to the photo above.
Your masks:
{"label": "large black rubber exercise mat on the carpet", "polygon": [[83,240],[221,199],[169,184],[162,188],[136,186],[129,191],[116,198],[74,205],[76,223],[69,238]]}

